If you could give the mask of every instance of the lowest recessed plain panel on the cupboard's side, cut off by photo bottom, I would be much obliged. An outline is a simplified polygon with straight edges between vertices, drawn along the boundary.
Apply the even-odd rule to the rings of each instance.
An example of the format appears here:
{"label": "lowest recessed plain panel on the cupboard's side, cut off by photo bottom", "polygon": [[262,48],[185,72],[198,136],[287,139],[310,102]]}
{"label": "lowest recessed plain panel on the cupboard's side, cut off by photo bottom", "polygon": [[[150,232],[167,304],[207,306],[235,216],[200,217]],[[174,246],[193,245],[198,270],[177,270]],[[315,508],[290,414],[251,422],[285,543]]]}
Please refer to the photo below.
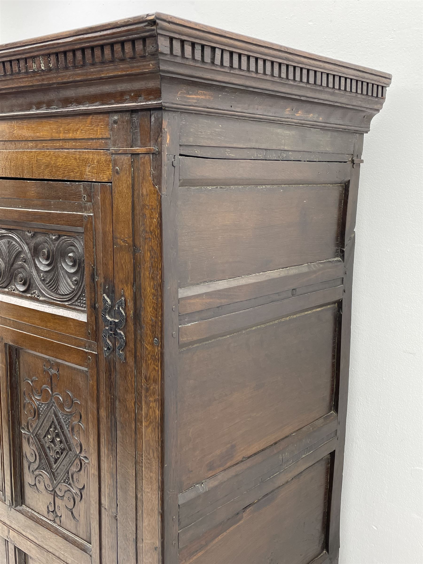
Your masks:
{"label": "lowest recessed plain panel on the cupboard's side, cut off by photo bottom", "polygon": [[232,526],[180,564],[309,564],[325,548],[329,460],[240,511]]}

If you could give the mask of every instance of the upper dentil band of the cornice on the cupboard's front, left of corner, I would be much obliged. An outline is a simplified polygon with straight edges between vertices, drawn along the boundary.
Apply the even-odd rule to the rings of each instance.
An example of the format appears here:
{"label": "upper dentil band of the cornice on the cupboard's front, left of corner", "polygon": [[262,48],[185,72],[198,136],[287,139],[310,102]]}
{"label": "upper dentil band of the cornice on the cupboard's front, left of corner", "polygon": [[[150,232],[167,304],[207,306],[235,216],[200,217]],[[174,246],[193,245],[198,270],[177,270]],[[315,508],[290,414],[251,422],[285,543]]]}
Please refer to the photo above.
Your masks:
{"label": "upper dentil band of the cornice on the cupboard's front, left of corner", "polygon": [[155,69],[155,19],[145,16],[0,47],[0,92]]}

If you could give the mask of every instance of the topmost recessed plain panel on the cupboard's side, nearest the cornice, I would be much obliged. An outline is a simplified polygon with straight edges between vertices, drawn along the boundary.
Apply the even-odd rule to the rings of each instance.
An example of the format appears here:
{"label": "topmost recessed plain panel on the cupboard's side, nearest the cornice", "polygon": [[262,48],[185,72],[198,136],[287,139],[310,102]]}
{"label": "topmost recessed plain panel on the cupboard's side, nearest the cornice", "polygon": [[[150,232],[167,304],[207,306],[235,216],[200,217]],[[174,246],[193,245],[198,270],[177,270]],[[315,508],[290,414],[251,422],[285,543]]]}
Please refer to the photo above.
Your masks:
{"label": "topmost recessed plain panel on the cupboard's side, nearest the cornice", "polygon": [[343,185],[179,188],[179,285],[339,255]]}

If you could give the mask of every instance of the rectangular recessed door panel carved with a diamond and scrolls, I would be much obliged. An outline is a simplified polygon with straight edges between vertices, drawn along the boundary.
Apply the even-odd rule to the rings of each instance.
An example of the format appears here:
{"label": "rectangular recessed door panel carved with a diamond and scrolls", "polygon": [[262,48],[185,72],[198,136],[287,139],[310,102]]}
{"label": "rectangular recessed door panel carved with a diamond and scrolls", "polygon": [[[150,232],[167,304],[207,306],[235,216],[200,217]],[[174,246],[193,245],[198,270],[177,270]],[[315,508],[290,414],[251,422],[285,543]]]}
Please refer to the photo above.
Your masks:
{"label": "rectangular recessed door panel carved with a diamond and scrolls", "polygon": [[23,504],[90,541],[87,372],[19,351]]}

